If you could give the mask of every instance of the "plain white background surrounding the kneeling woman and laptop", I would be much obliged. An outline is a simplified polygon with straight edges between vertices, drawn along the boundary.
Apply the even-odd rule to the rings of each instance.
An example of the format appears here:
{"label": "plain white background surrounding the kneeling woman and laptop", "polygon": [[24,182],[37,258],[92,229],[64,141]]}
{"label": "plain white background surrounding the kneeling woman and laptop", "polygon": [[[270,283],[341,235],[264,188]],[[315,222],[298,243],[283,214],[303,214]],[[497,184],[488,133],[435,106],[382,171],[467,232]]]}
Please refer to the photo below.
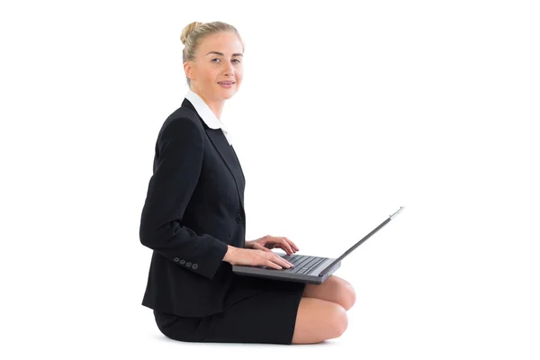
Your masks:
{"label": "plain white background surrounding the kneeling woman and laptop", "polygon": [[[3,2],[0,357],[538,359],[535,3]],[[247,45],[223,114],[247,240],[338,257],[405,206],[336,273],[357,293],[341,338],[182,343],[140,305],[193,21]]]}

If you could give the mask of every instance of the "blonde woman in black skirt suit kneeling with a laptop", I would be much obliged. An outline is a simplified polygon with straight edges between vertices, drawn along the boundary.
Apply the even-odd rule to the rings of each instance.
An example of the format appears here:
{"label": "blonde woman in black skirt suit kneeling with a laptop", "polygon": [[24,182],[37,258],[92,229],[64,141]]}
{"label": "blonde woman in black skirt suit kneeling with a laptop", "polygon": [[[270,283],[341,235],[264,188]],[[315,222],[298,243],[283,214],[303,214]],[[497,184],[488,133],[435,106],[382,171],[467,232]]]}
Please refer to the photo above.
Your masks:
{"label": "blonde woman in black skirt suit kneeling with a laptop", "polygon": [[288,238],[246,241],[245,178],[220,114],[243,78],[244,45],[227,23],[184,28],[189,90],[157,136],[140,220],[153,249],[142,305],[180,341],[310,344],[338,338],[355,302],[350,284],[282,282],[232,273],[232,265],[291,266],[271,249]]}

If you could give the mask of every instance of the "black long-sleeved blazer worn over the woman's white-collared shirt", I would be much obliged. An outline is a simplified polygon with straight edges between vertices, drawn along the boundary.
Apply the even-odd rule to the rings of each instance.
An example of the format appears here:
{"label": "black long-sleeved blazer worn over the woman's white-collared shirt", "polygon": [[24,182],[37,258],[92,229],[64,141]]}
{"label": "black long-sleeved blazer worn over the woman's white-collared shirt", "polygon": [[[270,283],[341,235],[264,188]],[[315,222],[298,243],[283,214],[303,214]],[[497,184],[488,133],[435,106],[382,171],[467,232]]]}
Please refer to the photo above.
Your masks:
{"label": "black long-sleeved blazer worn over the woman's white-collared shirt", "polygon": [[246,243],[244,187],[223,132],[209,128],[184,99],[157,135],[140,218],[140,242],[154,250],[142,305],[179,316],[224,310],[237,275],[222,260],[228,244]]}

